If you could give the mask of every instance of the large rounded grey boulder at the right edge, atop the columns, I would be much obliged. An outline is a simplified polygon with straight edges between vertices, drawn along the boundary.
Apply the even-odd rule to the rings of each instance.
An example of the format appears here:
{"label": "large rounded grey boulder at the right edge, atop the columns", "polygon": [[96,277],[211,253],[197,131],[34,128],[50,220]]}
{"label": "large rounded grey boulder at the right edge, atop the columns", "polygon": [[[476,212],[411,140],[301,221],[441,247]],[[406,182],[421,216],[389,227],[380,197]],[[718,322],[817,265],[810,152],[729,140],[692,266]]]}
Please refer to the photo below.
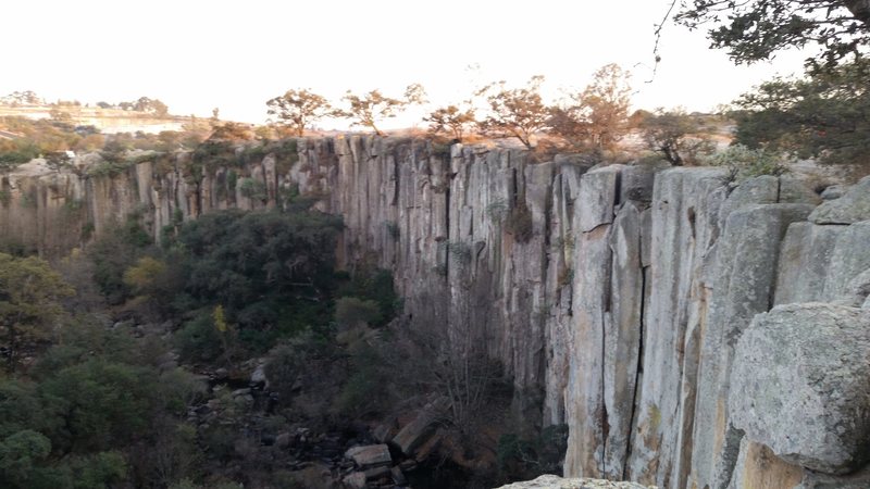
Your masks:
{"label": "large rounded grey boulder at the right edge, atop the columns", "polygon": [[736,428],[786,462],[847,474],[870,461],[870,312],[823,303],[759,314],[739,339]]}

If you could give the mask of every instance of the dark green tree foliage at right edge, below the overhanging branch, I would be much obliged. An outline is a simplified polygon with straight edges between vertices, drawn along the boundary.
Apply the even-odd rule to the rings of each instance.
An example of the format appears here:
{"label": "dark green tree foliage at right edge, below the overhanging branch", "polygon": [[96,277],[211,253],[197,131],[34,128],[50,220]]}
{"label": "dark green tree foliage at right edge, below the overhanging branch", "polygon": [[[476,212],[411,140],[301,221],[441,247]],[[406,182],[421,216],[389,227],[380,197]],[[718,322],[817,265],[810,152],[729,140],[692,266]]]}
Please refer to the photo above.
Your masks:
{"label": "dark green tree foliage at right edge, below the overhanging branch", "polygon": [[775,78],[745,93],[732,114],[736,142],[826,163],[867,163],[870,61],[803,79]]}

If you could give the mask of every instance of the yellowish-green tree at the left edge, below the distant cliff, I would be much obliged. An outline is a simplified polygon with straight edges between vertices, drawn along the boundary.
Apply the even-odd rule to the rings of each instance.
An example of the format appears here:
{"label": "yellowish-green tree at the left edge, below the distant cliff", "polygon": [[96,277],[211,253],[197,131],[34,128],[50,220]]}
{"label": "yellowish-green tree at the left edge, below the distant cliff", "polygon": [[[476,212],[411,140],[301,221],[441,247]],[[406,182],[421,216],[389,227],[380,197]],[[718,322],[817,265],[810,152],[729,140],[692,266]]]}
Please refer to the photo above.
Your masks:
{"label": "yellowish-green tree at the left edge, below the distant cliff", "polygon": [[73,292],[46,261],[0,253],[0,331],[10,369],[22,347],[50,336],[64,314],[60,299]]}

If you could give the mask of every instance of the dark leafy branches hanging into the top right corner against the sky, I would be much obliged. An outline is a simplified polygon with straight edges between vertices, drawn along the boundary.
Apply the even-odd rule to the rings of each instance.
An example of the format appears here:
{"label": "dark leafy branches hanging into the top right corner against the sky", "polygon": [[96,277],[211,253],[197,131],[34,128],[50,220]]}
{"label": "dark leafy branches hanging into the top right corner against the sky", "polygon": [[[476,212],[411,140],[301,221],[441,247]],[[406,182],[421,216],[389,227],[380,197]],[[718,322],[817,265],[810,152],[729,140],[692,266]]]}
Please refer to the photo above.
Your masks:
{"label": "dark leafy branches hanging into the top right corner against the sky", "polygon": [[818,45],[820,53],[808,64],[831,68],[862,58],[870,46],[869,0],[694,0],[674,20],[689,28],[711,25],[707,34],[712,47],[728,49],[736,63]]}

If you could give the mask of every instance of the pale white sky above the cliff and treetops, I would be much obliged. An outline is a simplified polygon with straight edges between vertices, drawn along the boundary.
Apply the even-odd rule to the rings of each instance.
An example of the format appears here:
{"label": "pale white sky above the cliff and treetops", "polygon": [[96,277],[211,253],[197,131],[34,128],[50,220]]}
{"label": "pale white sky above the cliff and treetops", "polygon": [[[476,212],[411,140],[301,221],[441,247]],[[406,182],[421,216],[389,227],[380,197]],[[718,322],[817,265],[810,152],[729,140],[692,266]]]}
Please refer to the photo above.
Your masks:
{"label": "pale white sky above the cliff and treetops", "polygon": [[[499,79],[546,77],[546,93],[584,87],[607,63],[634,74],[633,106],[710,111],[805,55],[734,66],[703,32],[669,23],[651,83],[664,0],[26,0],[0,9],[0,96],[158,98],[173,114],[262,123],[265,101],[310,88],[400,96],[421,83],[435,103]],[[470,70],[469,66],[478,66]],[[396,121],[395,125],[411,124]],[[323,126],[340,123],[324,123]],[[385,124],[386,127],[390,125]]]}

